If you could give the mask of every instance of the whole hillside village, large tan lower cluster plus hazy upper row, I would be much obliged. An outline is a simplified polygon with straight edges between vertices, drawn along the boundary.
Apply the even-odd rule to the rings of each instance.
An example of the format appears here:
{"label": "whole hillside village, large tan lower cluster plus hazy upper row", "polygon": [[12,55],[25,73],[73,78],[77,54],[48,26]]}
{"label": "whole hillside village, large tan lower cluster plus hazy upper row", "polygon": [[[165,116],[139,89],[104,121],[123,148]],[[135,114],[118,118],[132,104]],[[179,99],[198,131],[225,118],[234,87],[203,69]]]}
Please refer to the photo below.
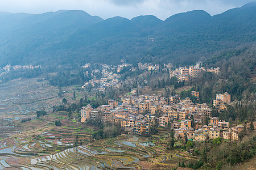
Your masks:
{"label": "whole hillside village, large tan lower cluster plus hazy upper row", "polygon": [[[175,76],[178,81],[187,81],[200,75],[201,71],[209,71],[215,74],[220,73],[220,68],[211,68],[205,70],[197,62],[195,66],[179,67],[173,69],[171,63],[164,64],[162,71],[167,71],[170,78]],[[90,67],[86,64],[84,67]],[[144,71],[159,70],[160,65],[151,63],[138,63],[131,67],[127,63],[118,66],[101,65],[102,70],[93,70],[92,80],[85,83],[86,86],[93,86],[92,91],[105,91],[108,87],[118,88],[122,81],[122,69],[135,71],[137,69]],[[128,69],[127,69],[128,68]],[[114,73],[115,72],[115,73]],[[101,73],[101,77],[96,78],[96,73]],[[86,75],[89,76],[88,71]],[[230,127],[229,122],[220,120],[218,117],[212,117],[212,109],[207,104],[193,103],[189,97],[181,100],[179,95],[169,96],[161,95],[140,95],[139,88],[134,88],[130,93],[123,96],[121,103],[115,100],[109,100],[108,105],[101,105],[93,109],[92,105],[82,107],[81,122],[86,120],[101,120],[102,122],[113,122],[121,124],[126,133],[135,133],[139,135],[150,135],[153,125],[171,128],[175,130],[177,139],[193,139],[195,141],[205,141],[205,139],[222,137],[224,139],[238,139],[238,133],[243,130],[242,125]],[[199,99],[199,92],[191,91],[191,95]],[[231,105],[231,95],[227,92],[216,94],[213,100],[213,107],[217,112],[225,111],[228,105]],[[210,120],[205,124],[205,120]]]}

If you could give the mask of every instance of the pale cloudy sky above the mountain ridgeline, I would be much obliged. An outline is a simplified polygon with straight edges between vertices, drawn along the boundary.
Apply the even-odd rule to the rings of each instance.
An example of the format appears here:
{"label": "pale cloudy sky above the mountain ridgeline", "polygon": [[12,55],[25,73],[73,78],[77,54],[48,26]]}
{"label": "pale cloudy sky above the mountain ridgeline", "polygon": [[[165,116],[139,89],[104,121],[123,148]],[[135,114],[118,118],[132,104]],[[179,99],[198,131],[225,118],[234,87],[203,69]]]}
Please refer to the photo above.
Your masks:
{"label": "pale cloudy sky above the mountain ridgeline", "polygon": [[254,0],[0,0],[0,11],[39,14],[57,10],[84,10],[103,19],[155,15],[166,19],[179,12],[205,10],[210,15]]}

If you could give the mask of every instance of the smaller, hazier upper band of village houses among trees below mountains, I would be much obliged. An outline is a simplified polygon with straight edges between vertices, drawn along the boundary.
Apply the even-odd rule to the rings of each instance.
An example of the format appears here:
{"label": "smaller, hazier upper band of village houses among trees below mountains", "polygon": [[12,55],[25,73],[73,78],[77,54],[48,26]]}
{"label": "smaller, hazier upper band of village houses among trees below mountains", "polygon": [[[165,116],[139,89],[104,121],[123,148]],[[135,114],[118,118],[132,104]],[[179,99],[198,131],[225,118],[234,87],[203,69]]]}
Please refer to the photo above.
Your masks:
{"label": "smaller, hazier upper band of village houses among trees below mountains", "polygon": [[[122,62],[124,61],[122,60]],[[178,81],[187,81],[189,79],[193,79],[196,76],[199,76],[201,71],[209,71],[215,74],[220,73],[220,68],[218,67],[205,70],[205,68],[201,65],[201,62],[197,62],[195,66],[184,66],[174,69],[174,66],[171,63],[160,66],[159,64],[139,62],[137,66],[134,67],[128,63],[122,63],[121,65],[117,66],[101,64],[99,65],[98,69],[92,70],[91,72],[84,72],[84,75],[89,78],[89,80],[88,82],[84,83],[82,88],[91,87],[90,90],[92,92],[104,92],[108,90],[108,88],[119,88],[123,84],[123,81],[120,80],[121,74],[129,71],[134,72],[137,70],[145,72],[162,69],[162,71],[170,74],[170,78],[175,76]],[[86,63],[84,66],[82,66],[84,69],[88,69],[90,67],[92,67],[90,63]]]}

